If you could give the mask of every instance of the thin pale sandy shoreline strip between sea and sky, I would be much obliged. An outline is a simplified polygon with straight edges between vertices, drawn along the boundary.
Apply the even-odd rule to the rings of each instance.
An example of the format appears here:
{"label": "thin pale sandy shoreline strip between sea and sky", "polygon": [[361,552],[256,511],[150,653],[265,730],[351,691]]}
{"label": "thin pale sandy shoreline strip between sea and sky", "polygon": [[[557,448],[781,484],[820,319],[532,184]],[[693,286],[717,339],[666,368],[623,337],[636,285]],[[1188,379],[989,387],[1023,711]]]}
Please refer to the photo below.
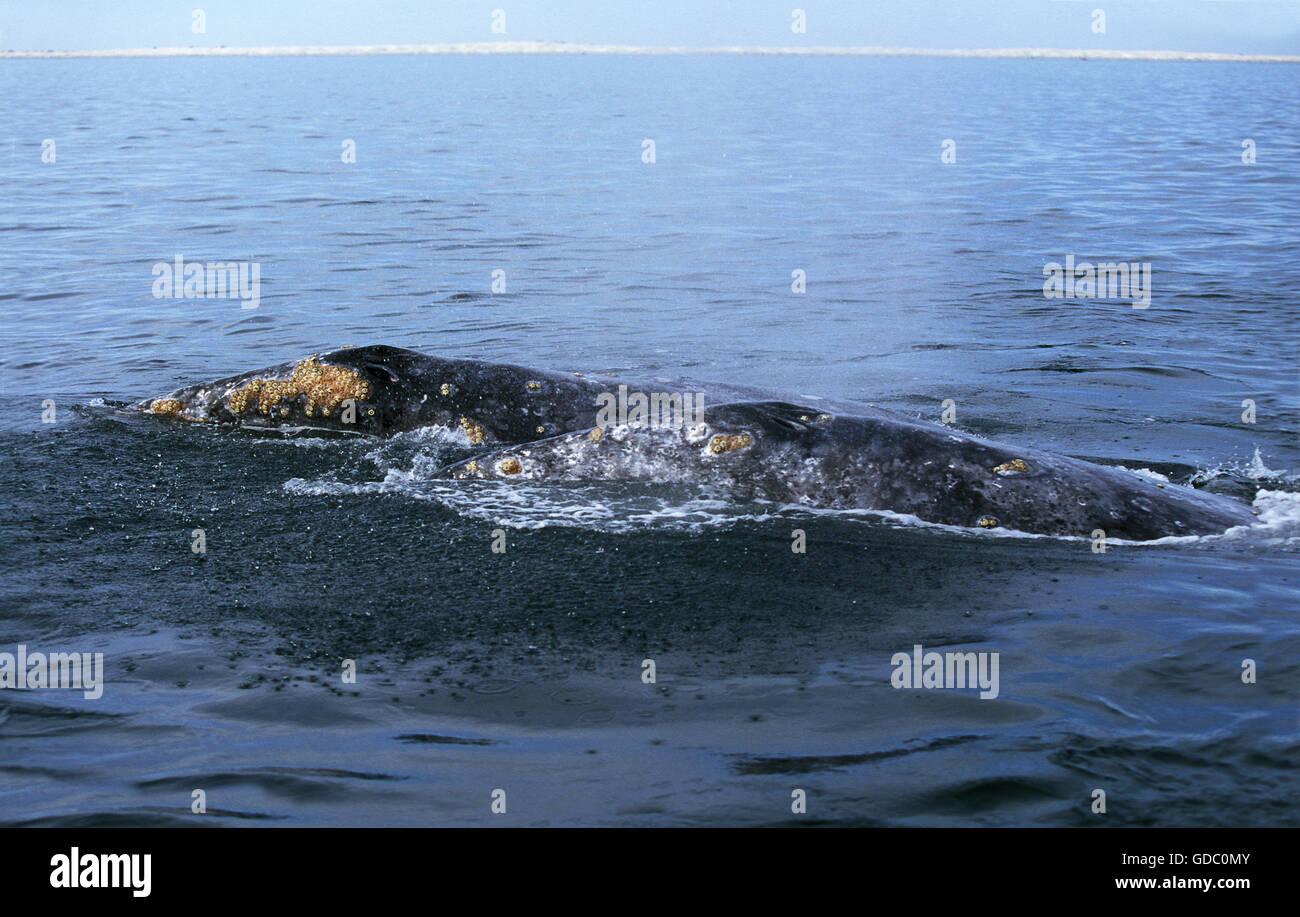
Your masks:
{"label": "thin pale sandy shoreline strip between sea and sky", "polygon": [[913,48],[889,46],[647,46],[568,42],[452,42],[441,44],[282,44],[251,47],[152,47],[92,51],[0,51],[0,59],[68,57],[306,57],[369,55],[729,55],[826,57],[983,57],[1045,60],[1145,60],[1300,64],[1300,55],[1219,51],[1118,51],[1112,48]]}

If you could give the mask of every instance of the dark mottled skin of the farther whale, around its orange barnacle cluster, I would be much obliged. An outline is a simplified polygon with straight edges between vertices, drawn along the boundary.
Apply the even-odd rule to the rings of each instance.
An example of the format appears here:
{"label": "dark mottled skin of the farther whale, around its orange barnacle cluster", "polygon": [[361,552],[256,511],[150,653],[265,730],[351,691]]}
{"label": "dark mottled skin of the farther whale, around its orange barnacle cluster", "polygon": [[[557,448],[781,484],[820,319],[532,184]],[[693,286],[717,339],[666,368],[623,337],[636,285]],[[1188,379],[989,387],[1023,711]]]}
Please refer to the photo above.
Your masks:
{"label": "dark mottled skin of the farther whale, around its orange barnacle cluster", "polygon": [[[315,412],[308,418],[303,397],[278,405],[289,411],[283,416],[278,410],[270,415],[256,407],[238,414],[231,410],[231,393],[254,379],[289,379],[298,360],[191,385],[131,407],[148,411],[156,402],[176,399],[185,408],[173,416],[182,420],[381,436],[433,424],[458,428],[465,418],[482,427],[482,442],[525,442],[590,427],[595,423],[597,395],[618,385],[618,381],[602,382],[506,363],[448,360],[382,345],[346,347],[320,354],[317,359],[322,364],[355,369],[369,382],[369,397],[356,401],[352,423],[344,423],[343,411],[330,416]],[[443,386],[450,386],[448,394],[443,394]]]}

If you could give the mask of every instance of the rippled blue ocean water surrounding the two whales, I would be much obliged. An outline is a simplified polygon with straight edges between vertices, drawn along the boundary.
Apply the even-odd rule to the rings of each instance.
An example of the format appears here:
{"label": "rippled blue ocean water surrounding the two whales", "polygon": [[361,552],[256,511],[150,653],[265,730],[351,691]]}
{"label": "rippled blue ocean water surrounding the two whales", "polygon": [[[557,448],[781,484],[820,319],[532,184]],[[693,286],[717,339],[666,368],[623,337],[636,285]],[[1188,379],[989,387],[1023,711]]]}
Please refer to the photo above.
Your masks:
{"label": "rippled blue ocean water surrounding the two whales", "polygon": [[[0,62],[0,650],[105,659],[98,700],[0,693],[0,821],[1300,823],[1296,75]],[[257,263],[259,304],[155,298],[177,255]],[[1150,263],[1149,308],[1045,298],[1067,255]],[[958,427],[1262,524],[1095,553],[436,484],[468,451],[446,431],[120,410],[372,342],[932,420],[952,399]],[[916,644],[997,653],[998,696],[894,689]]]}

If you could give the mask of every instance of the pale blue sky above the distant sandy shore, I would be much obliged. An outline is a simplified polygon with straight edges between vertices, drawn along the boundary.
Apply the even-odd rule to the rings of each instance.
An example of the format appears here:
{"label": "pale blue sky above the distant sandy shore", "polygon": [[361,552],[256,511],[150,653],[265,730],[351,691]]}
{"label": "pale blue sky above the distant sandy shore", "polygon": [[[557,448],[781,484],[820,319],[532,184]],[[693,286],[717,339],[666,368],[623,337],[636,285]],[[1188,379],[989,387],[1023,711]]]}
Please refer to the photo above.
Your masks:
{"label": "pale blue sky above the distant sandy shore", "polygon": [[12,51],[502,39],[1300,53],[1300,0],[0,0]]}

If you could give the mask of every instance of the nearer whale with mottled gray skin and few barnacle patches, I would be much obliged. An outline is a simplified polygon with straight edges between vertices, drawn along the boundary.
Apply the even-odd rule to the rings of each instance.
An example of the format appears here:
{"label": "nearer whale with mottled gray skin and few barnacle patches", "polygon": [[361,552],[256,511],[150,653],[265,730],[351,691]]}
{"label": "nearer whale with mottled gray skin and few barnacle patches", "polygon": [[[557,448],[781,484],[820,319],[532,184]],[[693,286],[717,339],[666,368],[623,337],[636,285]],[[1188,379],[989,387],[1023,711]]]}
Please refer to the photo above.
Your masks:
{"label": "nearer whale with mottled gray skin and few barnacle patches", "polygon": [[[715,451],[715,442],[731,447]],[[1028,471],[994,471],[1015,459]],[[1253,522],[1235,499],[1128,471],[1001,446],[887,411],[832,418],[781,402],[710,407],[698,428],[575,432],[467,459],[441,473],[694,483],[742,499],[888,510],[932,523],[1041,535],[1092,537],[1102,529],[1108,538],[1134,541],[1210,535]]]}

